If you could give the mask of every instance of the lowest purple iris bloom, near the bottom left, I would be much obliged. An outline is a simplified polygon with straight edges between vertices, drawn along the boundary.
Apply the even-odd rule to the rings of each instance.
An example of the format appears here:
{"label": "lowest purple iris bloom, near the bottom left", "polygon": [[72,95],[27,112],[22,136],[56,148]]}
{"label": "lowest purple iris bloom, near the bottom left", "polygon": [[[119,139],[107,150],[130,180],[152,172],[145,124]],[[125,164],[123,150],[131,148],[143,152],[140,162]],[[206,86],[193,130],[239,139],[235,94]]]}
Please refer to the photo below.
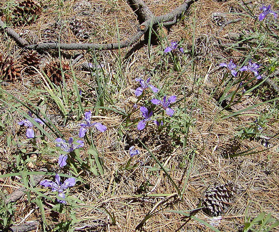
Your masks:
{"label": "lowest purple iris bloom, near the bottom left", "polygon": [[[63,190],[74,186],[76,184],[76,179],[71,177],[68,178],[64,181],[64,183],[62,184],[62,182],[60,181],[60,176],[58,174],[55,175],[55,181],[53,182],[51,180],[42,180],[40,182],[40,185],[44,186],[44,187],[51,187],[51,191],[53,192],[58,192],[58,196],[60,196],[61,198],[65,199],[65,194],[63,193]],[[57,199],[58,202],[62,203],[62,204],[66,204],[65,200],[59,200]]]}

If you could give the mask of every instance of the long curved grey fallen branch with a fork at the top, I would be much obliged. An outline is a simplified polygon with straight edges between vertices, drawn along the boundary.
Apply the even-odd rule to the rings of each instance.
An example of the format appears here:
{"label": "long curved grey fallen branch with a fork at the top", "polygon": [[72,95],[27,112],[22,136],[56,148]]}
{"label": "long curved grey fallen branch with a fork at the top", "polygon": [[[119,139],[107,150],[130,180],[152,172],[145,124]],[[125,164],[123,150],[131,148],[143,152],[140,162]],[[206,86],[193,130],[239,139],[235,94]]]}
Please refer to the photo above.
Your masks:
{"label": "long curved grey fallen branch with a fork at the top", "polygon": [[120,41],[120,43],[109,43],[109,44],[65,44],[65,43],[40,43],[28,45],[28,43],[21,38],[12,28],[7,27],[1,20],[0,26],[4,28],[8,36],[15,40],[15,42],[20,46],[29,50],[36,51],[46,51],[51,49],[61,49],[61,50],[113,50],[118,48],[126,48],[135,44],[144,35],[145,32],[150,27],[151,21],[153,26],[157,26],[162,23],[163,25],[171,26],[176,23],[177,18],[184,12],[187,11],[190,5],[197,0],[185,0],[181,6],[176,8],[166,15],[154,16],[148,6],[142,0],[127,0],[129,6],[138,14],[139,22],[144,21],[140,24],[137,32],[129,40]]}

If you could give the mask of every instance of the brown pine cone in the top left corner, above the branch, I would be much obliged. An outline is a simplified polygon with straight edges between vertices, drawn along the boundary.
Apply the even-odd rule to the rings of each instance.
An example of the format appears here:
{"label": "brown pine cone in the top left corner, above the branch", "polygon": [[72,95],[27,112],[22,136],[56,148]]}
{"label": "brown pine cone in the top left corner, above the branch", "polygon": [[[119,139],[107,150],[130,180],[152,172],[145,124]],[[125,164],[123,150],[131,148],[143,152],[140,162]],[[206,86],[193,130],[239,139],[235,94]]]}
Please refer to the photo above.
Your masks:
{"label": "brown pine cone in the top left corner, above the branch", "polygon": [[31,24],[42,15],[42,8],[38,2],[32,0],[24,0],[15,7],[13,11],[14,24],[21,26],[24,24]]}

